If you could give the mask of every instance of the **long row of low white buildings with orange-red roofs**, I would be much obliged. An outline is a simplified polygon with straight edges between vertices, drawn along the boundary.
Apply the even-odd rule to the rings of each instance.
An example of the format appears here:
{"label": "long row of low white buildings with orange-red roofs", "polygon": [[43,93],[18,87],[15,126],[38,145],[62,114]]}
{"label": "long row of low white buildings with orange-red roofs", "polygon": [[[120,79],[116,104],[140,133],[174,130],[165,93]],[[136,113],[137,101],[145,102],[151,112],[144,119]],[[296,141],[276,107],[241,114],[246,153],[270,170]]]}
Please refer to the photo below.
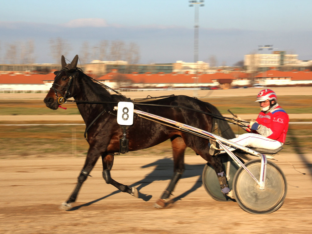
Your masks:
{"label": "long row of low white buildings with orange-red roofs", "polygon": [[[0,74],[0,93],[47,92],[54,81],[55,75],[50,72],[40,74]],[[251,87],[251,76],[248,73],[234,71],[231,73],[217,72],[213,74],[157,74],[133,72],[121,74],[116,69],[97,79],[99,82],[113,88],[208,88],[212,86],[221,89],[232,87]],[[312,86],[312,72],[269,70],[257,74],[254,83],[263,87],[278,86]]]}

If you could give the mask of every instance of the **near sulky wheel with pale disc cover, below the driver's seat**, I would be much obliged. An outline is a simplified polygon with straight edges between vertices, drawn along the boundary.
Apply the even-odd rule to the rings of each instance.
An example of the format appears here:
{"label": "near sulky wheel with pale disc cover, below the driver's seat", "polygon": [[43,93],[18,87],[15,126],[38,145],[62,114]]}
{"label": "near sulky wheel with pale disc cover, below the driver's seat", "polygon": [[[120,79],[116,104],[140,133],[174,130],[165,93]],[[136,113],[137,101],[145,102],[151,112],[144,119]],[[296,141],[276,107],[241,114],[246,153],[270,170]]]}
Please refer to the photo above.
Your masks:
{"label": "near sulky wheel with pale disc cover, below the driver's seat", "polygon": [[[245,166],[259,180],[261,159],[251,160]],[[271,161],[267,162],[263,190],[258,188],[256,181],[242,167],[237,170],[232,186],[236,202],[251,214],[269,214],[276,211],[283,204],[287,192],[284,173]]]}

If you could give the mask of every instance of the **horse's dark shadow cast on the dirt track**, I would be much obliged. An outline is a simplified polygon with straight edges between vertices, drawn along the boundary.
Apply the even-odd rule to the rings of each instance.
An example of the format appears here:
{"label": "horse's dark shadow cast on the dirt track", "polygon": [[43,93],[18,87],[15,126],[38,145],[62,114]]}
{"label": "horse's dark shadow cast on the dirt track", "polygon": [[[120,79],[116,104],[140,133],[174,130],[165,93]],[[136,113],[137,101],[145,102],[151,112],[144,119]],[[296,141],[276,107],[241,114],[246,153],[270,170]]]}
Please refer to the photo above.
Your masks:
{"label": "horse's dark shadow cast on the dirt track", "polygon": [[[202,171],[204,169],[204,166],[205,166],[205,164],[196,164],[196,165],[185,164],[185,172],[183,173],[182,179],[183,178],[196,177],[196,176],[198,178],[194,182],[192,188],[188,189],[187,191],[185,191],[184,193],[182,193],[176,197],[173,197],[170,200],[170,203],[174,203],[178,200],[181,200],[183,197],[186,197],[188,194],[194,192],[195,190],[197,190],[198,188],[200,188],[202,186],[201,175],[202,175]],[[173,175],[173,160],[172,160],[172,158],[169,158],[169,157],[161,158],[161,159],[156,160],[153,163],[149,163],[149,164],[146,164],[144,166],[141,166],[141,168],[149,168],[149,167],[155,167],[155,168],[153,171],[146,174],[145,177],[142,178],[141,180],[128,185],[129,188],[131,188],[131,187],[137,188],[137,190],[139,192],[139,198],[146,201],[146,202],[149,201],[153,196],[149,195],[149,194],[141,193],[140,190],[142,188],[150,185],[154,181],[161,181],[161,180],[170,179]],[[90,206],[95,202],[99,202],[99,201],[101,201],[107,197],[113,196],[117,193],[121,193],[121,191],[116,190],[110,194],[105,195],[104,197],[100,197],[100,198],[93,200],[91,202],[87,202],[87,203],[81,204],[79,206],[73,207],[71,210],[77,210],[77,209],[80,209],[81,207]]]}

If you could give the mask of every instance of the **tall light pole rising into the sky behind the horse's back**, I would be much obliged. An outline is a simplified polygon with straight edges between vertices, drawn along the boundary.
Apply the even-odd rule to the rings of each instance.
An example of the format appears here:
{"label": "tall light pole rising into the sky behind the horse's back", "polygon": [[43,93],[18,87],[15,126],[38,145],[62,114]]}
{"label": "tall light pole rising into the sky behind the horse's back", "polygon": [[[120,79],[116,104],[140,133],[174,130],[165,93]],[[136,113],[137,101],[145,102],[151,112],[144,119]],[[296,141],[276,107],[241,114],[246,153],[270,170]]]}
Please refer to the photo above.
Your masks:
{"label": "tall light pole rising into the sky behind the horse's back", "polygon": [[[198,76],[197,76],[197,61],[198,61],[198,19],[199,19],[199,7],[205,6],[204,0],[192,0],[188,1],[189,7],[194,7],[194,64],[195,64],[195,72],[196,77],[194,78],[194,83],[198,82]],[[194,89],[194,96],[197,97],[197,91]]]}

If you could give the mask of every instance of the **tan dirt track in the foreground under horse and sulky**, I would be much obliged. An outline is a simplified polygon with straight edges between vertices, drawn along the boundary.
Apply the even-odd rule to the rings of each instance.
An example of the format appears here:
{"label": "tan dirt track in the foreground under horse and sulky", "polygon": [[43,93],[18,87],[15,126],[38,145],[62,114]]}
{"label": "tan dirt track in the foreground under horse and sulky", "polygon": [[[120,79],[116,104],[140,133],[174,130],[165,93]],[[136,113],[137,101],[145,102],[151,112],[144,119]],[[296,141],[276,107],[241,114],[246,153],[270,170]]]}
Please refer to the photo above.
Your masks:
{"label": "tan dirt track in the foreground under horse and sulky", "polygon": [[57,207],[72,192],[84,158],[1,160],[0,233],[311,233],[312,155],[275,158],[288,193],[283,206],[266,215],[209,197],[201,184],[205,162],[196,155],[186,157],[175,202],[163,210],[152,206],[171,178],[170,157],[115,158],[112,177],[134,184],[140,198],[106,184],[98,162],[72,211]]}

